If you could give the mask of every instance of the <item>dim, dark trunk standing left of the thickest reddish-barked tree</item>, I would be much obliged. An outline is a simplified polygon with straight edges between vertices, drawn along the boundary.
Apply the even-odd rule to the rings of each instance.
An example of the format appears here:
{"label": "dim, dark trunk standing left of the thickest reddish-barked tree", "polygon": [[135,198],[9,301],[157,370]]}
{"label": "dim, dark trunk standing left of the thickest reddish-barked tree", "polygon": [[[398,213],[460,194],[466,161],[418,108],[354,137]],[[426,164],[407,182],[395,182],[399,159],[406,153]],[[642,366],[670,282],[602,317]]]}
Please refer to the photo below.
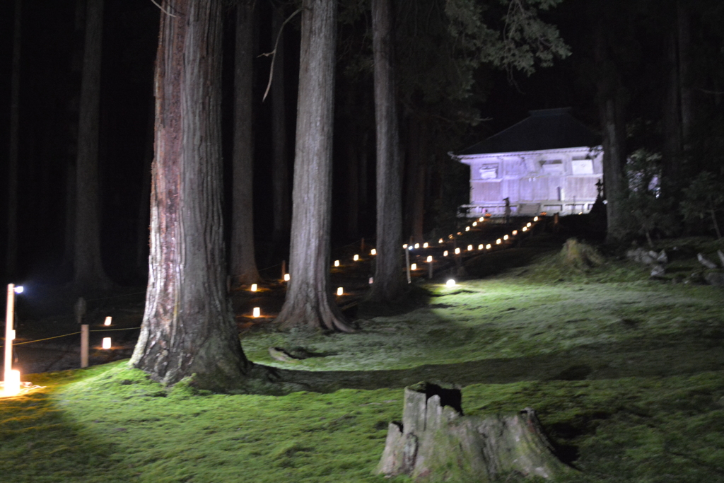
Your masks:
{"label": "dim, dark trunk standing left of the thickest reddish-barked tree", "polygon": [[80,84],[78,155],[75,165],[73,252],[73,283],[79,290],[111,286],[101,262],[101,198],[98,175],[103,7],[104,0],[88,0],[85,13],[85,50]]}

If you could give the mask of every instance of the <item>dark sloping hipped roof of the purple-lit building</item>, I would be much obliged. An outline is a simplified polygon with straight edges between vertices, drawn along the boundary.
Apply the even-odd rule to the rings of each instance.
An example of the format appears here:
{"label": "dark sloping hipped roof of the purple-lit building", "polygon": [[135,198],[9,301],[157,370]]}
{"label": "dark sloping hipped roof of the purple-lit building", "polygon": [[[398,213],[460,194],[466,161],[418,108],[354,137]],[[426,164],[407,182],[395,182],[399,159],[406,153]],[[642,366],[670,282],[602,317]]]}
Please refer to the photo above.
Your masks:
{"label": "dark sloping hipped roof of the purple-lit building", "polygon": [[571,116],[570,108],[531,111],[531,116],[518,124],[492,135],[459,154],[510,153],[539,149],[598,146],[597,135]]}

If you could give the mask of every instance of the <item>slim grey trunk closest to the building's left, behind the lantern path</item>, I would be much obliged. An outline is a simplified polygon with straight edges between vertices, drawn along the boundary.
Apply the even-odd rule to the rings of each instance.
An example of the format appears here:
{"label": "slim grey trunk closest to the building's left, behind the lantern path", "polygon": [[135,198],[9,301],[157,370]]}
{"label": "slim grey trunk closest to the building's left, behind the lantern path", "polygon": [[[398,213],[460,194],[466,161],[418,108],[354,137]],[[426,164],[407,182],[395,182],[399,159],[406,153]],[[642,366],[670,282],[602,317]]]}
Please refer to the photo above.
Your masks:
{"label": "slim grey trunk closest to the building's left, behind the lantern path", "polygon": [[377,240],[371,301],[393,301],[405,288],[400,251],[402,185],[393,66],[392,4],[372,0],[374,119],[377,143]]}

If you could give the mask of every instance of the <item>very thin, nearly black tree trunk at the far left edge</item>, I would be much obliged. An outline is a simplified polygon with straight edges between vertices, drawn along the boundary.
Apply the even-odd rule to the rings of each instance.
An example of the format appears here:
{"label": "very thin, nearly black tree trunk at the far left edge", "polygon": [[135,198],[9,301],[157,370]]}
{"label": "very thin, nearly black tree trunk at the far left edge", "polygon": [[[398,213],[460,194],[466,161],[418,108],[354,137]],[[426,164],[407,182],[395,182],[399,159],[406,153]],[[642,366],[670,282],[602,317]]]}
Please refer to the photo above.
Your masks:
{"label": "very thin, nearly black tree trunk at the far left edge", "polygon": [[12,32],[12,66],[10,79],[10,151],[7,169],[7,245],[5,247],[5,276],[17,275],[17,166],[20,133],[20,28],[22,0],[15,0]]}

